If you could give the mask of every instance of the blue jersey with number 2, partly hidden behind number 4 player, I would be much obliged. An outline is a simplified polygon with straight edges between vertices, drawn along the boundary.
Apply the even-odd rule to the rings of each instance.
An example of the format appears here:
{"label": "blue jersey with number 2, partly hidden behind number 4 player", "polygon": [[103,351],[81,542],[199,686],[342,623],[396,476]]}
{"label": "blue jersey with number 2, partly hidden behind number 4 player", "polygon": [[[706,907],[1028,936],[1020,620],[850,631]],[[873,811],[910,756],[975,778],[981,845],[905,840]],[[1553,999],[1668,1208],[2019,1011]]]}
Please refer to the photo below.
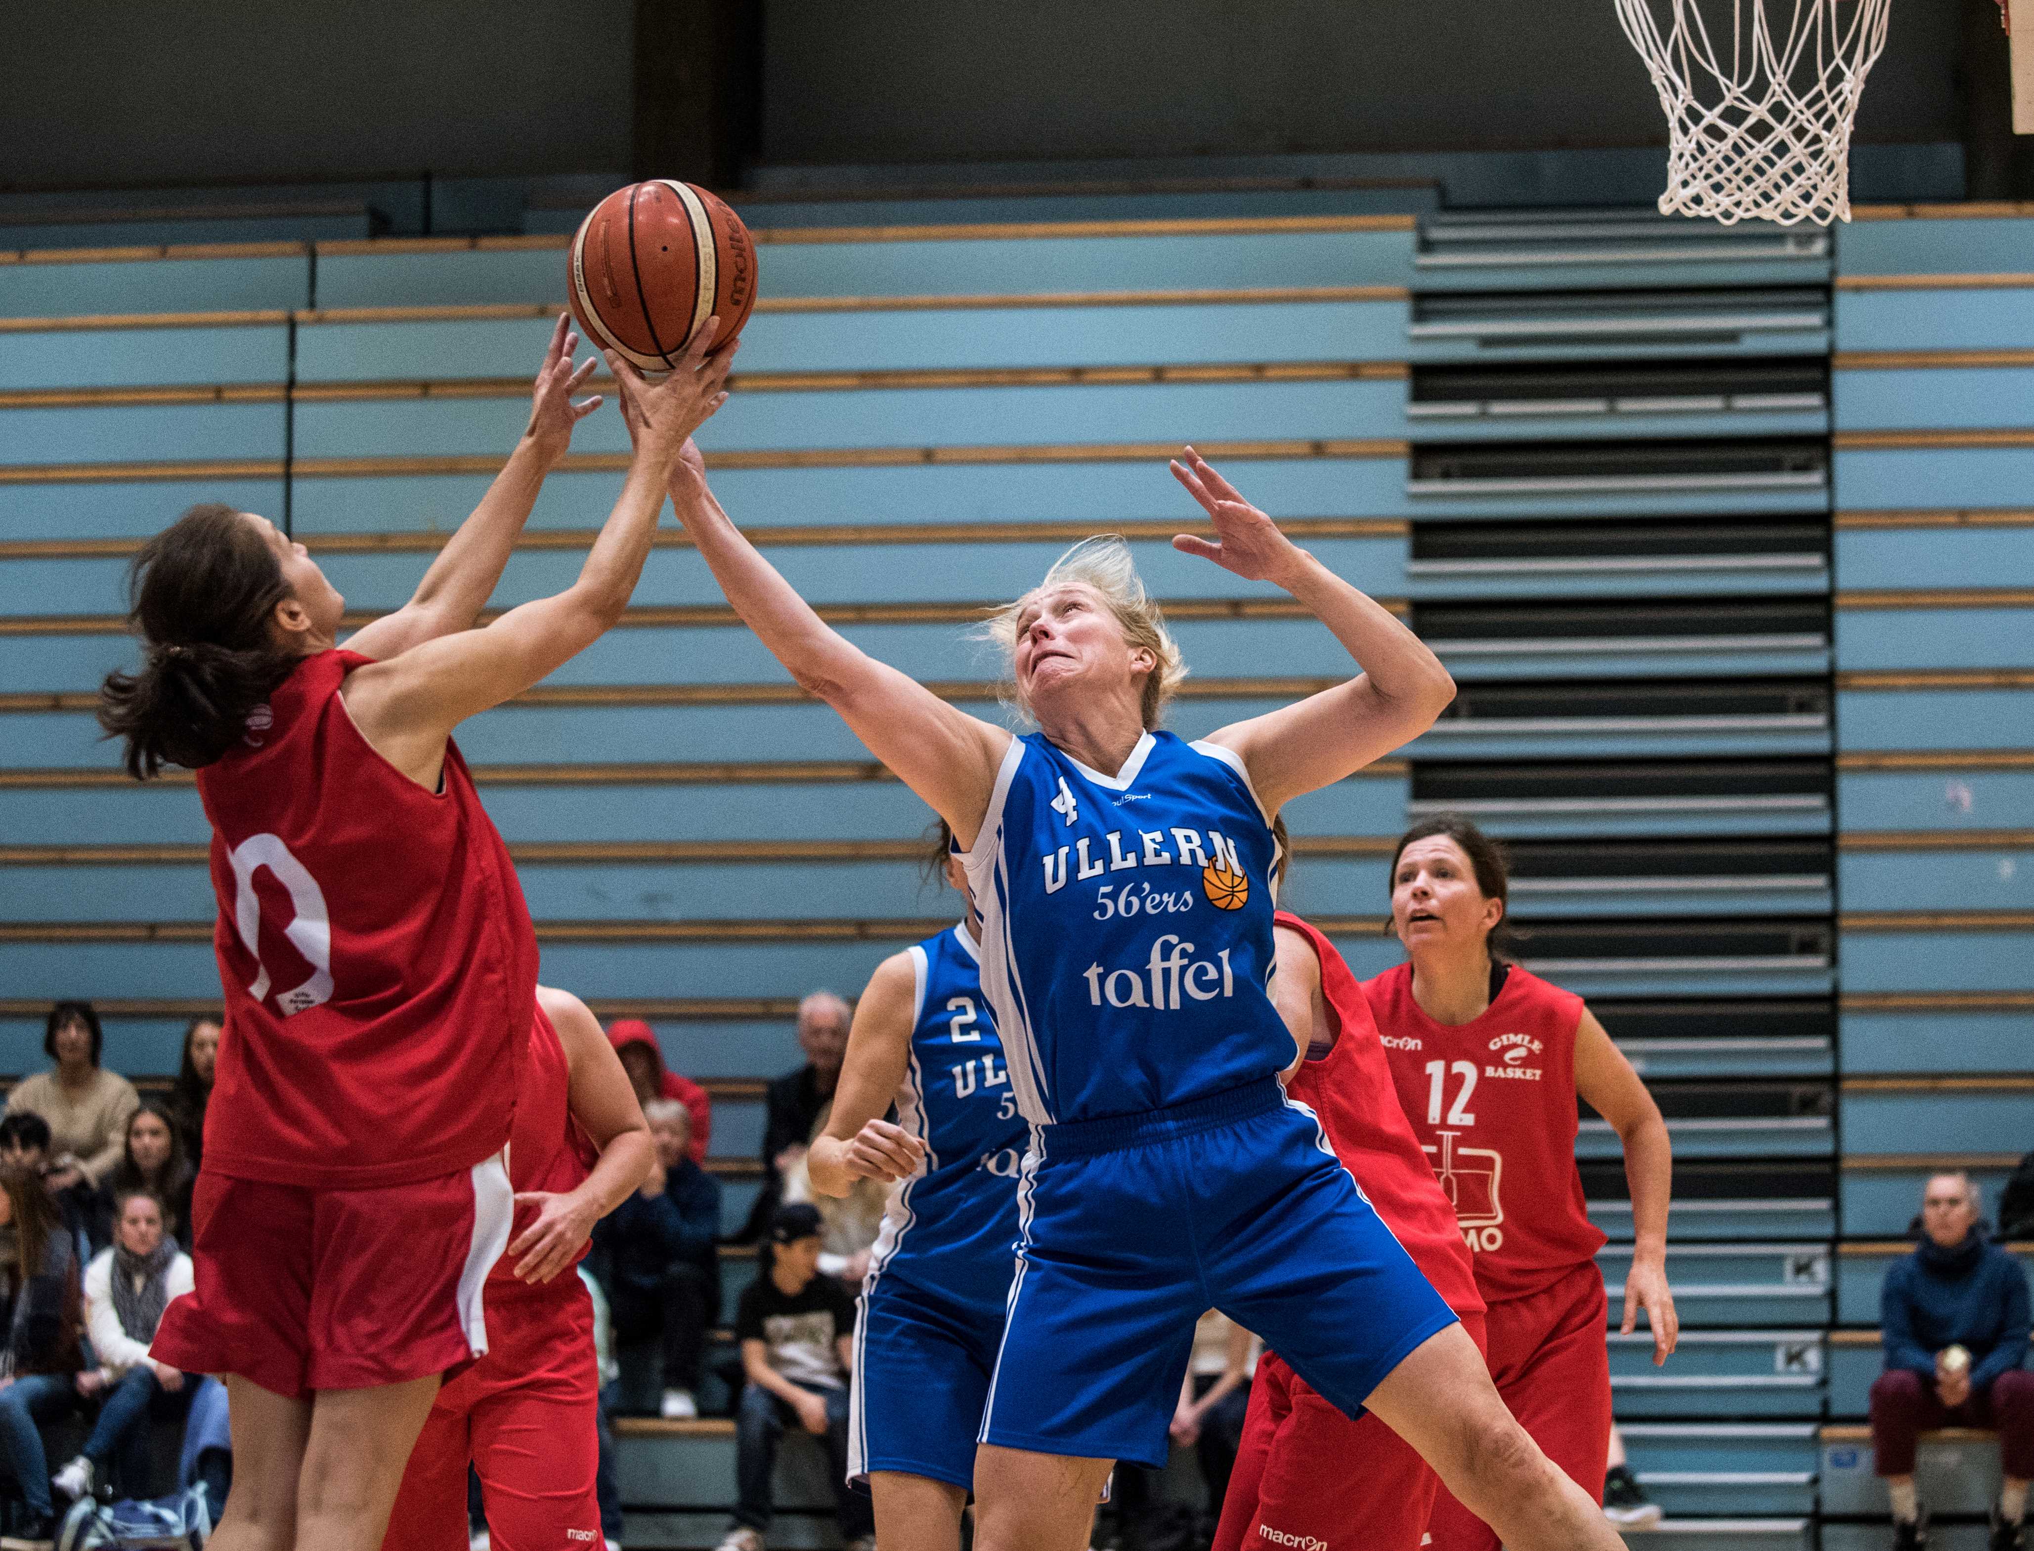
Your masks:
{"label": "blue jersey with number 2, partly hidden behind number 4 player", "polygon": [[925,1142],[925,1163],[891,1193],[871,1266],[989,1303],[1001,1317],[1017,1262],[1017,1169],[1029,1126],[966,925],[913,945],[911,966],[917,1016],[897,1124]]}

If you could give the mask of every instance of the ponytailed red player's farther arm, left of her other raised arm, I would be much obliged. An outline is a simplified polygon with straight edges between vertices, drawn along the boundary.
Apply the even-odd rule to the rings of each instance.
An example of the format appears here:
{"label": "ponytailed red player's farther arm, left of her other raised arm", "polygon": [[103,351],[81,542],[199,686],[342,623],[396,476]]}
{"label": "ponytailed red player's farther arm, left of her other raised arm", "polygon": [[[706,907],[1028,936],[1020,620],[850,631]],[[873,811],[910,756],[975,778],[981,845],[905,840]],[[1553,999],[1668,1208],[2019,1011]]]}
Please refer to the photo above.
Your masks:
{"label": "ponytailed red player's farther arm, left of her other raised arm", "polygon": [[572,354],[578,346],[580,335],[572,331],[567,315],[559,313],[551,346],[537,370],[523,439],[494,476],[488,494],[474,506],[474,514],[437,551],[431,569],[417,583],[417,594],[395,614],[362,626],[346,642],[352,650],[384,663],[425,640],[474,628],[474,620],[502,579],[515,541],[523,537],[523,524],[529,522],[545,476],[572,451],[572,427],[600,409],[600,394],[572,402],[572,394],[600,364],[598,358],[588,358],[584,366],[574,366]]}

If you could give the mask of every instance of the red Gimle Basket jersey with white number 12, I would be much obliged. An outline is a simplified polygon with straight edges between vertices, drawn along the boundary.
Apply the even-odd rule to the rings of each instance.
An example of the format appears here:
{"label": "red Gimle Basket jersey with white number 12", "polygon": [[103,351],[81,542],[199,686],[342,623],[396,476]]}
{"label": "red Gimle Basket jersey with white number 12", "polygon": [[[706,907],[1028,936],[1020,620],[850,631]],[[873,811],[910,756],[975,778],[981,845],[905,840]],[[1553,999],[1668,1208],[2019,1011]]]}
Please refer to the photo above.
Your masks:
{"label": "red Gimle Basket jersey with white number 12", "polygon": [[1399,1104],[1454,1201],[1489,1303],[1560,1281],[1603,1246],[1574,1167],[1582,998],[1511,966],[1483,1016],[1434,1022],[1412,964],[1365,980]]}

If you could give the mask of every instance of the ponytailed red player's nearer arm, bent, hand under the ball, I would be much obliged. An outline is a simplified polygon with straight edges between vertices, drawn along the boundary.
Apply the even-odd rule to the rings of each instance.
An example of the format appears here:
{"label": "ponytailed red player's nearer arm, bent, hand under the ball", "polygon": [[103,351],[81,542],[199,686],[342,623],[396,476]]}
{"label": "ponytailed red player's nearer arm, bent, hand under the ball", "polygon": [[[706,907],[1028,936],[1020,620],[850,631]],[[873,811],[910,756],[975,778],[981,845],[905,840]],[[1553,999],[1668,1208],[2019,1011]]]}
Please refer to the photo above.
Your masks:
{"label": "ponytailed red player's nearer arm, bent, hand under the ball", "polygon": [[413,781],[437,785],[445,738],[470,716],[523,693],[620,622],[643,575],[665,484],[692,433],[726,400],[734,348],[706,360],[712,321],[663,382],[645,382],[608,354],[631,415],[635,459],[620,500],[594,539],[580,579],[553,598],[511,608],[484,630],[427,640],[346,679],[346,709],[370,744]]}

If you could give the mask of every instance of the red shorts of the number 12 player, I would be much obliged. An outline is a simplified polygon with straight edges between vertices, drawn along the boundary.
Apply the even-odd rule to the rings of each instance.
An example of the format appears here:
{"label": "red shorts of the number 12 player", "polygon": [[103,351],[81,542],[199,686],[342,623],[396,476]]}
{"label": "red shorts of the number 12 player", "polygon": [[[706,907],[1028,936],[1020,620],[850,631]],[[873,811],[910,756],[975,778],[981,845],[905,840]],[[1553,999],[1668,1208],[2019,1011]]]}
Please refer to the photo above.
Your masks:
{"label": "red shorts of the number 12 player", "polygon": [[[1611,1354],[1603,1273],[1584,1260],[1552,1287],[1493,1303],[1491,1378],[1546,1457],[1595,1502],[1611,1451]],[[1442,1490],[1434,1551],[1497,1551],[1497,1531]]]}

